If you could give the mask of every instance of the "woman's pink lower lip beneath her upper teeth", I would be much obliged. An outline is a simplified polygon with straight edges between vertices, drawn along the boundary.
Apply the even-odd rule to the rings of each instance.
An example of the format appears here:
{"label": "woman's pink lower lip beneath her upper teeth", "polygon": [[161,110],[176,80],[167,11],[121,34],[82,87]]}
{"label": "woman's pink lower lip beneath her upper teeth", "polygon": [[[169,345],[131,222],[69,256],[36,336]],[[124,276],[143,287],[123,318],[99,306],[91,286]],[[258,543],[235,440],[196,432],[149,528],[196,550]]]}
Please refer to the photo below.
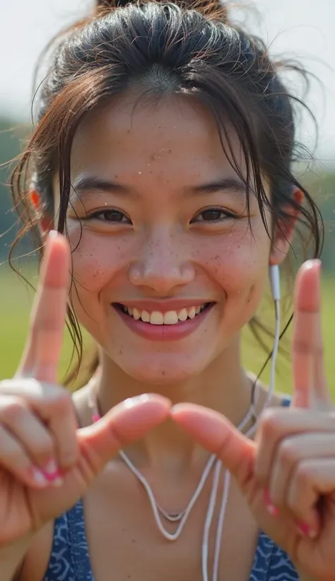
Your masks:
{"label": "woman's pink lower lip beneath her upper teeth", "polygon": [[196,315],[194,319],[180,321],[179,323],[175,323],[175,325],[151,325],[151,323],[145,323],[141,320],[136,321],[134,317],[126,315],[122,310],[115,307],[113,308],[126,325],[128,325],[129,329],[144,339],[151,339],[151,341],[176,341],[177,339],[183,339],[196,331],[213,306],[214,303],[209,305],[205,310],[199,312],[199,315]]}

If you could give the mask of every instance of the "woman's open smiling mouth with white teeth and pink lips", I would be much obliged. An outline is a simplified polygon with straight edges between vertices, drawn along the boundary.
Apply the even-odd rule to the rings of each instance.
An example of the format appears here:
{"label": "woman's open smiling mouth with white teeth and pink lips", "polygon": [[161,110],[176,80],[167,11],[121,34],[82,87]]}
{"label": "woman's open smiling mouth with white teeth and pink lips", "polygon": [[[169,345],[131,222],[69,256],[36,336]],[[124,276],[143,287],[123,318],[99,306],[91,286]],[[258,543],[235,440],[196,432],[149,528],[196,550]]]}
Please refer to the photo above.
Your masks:
{"label": "woman's open smiling mouth with white teeth and pink lips", "polygon": [[146,339],[172,341],[192,333],[216,303],[184,306],[172,310],[149,310],[113,303],[114,310],[134,332]]}

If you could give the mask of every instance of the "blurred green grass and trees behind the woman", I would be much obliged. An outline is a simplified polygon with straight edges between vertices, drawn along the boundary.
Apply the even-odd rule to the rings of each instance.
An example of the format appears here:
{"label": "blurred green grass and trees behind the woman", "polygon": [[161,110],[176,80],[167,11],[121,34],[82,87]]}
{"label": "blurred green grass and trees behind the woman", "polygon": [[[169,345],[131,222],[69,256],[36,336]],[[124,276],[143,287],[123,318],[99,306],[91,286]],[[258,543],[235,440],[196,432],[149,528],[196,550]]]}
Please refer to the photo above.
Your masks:
{"label": "blurred green grass and trees behind the woman", "polygon": [[[20,354],[23,350],[25,335],[28,329],[30,306],[33,300],[33,291],[20,277],[8,267],[8,249],[19,229],[16,215],[13,213],[9,195],[8,181],[9,167],[6,162],[13,159],[19,152],[22,138],[28,133],[26,127],[14,127],[13,123],[0,120],[0,378],[11,377],[16,370]],[[301,178],[300,178],[301,179]],[[319,169],[305,172],[302,178],[305,186],[317,197],[324,217],[326,240],[323,253],[323,308],[322,323],[324,328],[324,343],[326,351],[326,367],[329,384],[335,399],[335,356],[332,354],[335,339],[335,168]],[[37,282],[37,263],[34,254],[28,259],[20,256],[30,253],[32,247],[26,239],[16,252],[13,261],[33,285]],[[273,312],[270,306],[264,305],[261,313],[262,320],[271,323]],[[286,317],[287,318],[287,317]],[[278,357],[277,389],[290,392],[290,343],[288,332],[283,341],[285,354]],[[269,349],[271,349],[271,342]],[[246,332],[243,341],[243,354],[246,366],[254,373],[259,373],[266,359],[266,352],[259,347],[249,332]],[[60,363],[60,378],[69,366],[71,342],[66,334],[64,340],[64,354]],[[264,373],[264,380],[269,377],[269,366]]]}

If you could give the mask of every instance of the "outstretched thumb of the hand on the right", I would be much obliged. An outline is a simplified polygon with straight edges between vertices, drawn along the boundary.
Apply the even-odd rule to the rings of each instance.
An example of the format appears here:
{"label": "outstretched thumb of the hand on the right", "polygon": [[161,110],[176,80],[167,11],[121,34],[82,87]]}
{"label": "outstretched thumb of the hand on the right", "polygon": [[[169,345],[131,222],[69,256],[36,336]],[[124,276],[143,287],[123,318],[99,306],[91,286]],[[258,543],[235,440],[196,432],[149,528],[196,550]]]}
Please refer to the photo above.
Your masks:
{"label": "outstretched thumb of the hand on the right", "polygon": [[170,414],[201,446],[221,459],[244,489],[254,473],[254,442],[243,436],[222,414],[201,405],[177,404]]}

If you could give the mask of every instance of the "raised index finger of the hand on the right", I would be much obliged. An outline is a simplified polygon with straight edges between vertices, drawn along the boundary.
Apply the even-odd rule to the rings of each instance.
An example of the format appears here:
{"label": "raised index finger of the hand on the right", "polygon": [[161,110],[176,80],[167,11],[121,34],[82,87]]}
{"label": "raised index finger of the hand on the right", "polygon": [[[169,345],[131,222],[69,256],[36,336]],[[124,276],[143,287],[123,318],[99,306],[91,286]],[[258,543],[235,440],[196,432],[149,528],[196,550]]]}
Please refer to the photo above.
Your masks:
{"label": "raised index finger of the hand on the right", "polygon": [[317,260],[305,262],[295,283],[292,338],[295,407],[323,409],[331,404],[324,372],[320,266]]}

